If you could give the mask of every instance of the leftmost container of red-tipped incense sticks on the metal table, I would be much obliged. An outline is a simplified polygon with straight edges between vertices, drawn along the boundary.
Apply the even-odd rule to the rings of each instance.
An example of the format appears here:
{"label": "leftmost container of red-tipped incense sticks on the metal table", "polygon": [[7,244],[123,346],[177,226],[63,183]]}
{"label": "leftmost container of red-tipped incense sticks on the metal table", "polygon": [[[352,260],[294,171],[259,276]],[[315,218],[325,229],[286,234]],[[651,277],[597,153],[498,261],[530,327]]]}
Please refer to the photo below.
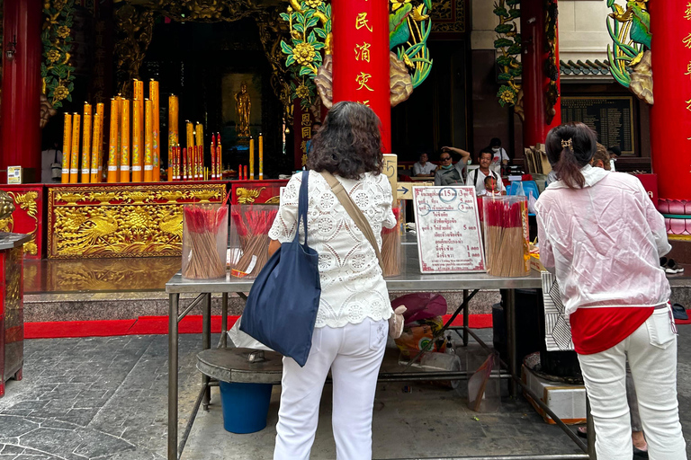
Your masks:
{"label": "leftmost container of red-tipped incense sticks on the metal table", "polygon": [[217,279],[226,275],[228,207],[184,207],[183,277]]}

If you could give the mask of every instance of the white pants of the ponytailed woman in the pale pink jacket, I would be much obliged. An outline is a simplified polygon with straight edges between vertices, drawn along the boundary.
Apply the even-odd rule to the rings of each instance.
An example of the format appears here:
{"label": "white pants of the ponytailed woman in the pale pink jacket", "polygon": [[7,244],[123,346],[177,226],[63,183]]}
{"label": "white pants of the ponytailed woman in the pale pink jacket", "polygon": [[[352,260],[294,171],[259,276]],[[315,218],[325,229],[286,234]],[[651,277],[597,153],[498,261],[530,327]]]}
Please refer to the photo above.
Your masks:
{"label": "white pants of the ponytailed woman in the pale pink jacket", "polygon": [[633,456],[626,402],[628,355],[651,460],[686,460],[677,401],[677,335],[671,321],[669,309],[655,310],[611,349],[579,355],[595,421],[597,458],[631,460]]}

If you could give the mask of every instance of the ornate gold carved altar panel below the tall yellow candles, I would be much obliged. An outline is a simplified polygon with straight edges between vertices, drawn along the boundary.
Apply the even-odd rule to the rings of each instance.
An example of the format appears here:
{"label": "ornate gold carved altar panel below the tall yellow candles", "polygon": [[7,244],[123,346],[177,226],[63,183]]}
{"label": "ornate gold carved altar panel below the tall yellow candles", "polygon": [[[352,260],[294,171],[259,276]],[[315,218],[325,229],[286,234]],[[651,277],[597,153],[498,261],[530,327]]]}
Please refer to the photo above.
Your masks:
{"label": "ornate gold carved altar panel below the tall yellow candles", "polygon": [[50,187],[49,258],[180,256],[184,203],[225,192],[225,183]]}

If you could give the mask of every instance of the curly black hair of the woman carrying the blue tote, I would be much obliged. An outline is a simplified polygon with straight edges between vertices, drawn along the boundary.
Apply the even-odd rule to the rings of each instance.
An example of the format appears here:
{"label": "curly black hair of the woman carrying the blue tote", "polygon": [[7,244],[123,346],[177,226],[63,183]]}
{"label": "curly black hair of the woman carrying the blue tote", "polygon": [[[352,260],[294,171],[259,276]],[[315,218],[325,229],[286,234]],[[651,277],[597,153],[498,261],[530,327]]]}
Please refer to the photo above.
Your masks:
{"label": "curly black hair of the woman carrying the blue tote", "polygon": [[357,102],[338,102],[312,137],[307,167],[358,180],[364,173],[381,173],[379,117]]}

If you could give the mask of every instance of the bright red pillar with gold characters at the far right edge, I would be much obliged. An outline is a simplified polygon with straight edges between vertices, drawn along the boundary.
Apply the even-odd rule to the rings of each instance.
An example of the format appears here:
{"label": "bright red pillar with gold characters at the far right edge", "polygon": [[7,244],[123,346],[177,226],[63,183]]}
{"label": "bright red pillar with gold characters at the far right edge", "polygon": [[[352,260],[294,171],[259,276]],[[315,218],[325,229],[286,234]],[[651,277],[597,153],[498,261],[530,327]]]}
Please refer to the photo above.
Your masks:
{"label": "bright red pillar with gold characters at the far right edge", "polygon": [[[691,62],[691,17],[687,16],[691,16],[691,8],[687,4],[650,4],[655,82],[651,157],[652,172],[658,175],[660,211],[691,216],[691,75],[687,67]],[[683,229],[683,221],[672,224],[669,233],[691,233]]]}

